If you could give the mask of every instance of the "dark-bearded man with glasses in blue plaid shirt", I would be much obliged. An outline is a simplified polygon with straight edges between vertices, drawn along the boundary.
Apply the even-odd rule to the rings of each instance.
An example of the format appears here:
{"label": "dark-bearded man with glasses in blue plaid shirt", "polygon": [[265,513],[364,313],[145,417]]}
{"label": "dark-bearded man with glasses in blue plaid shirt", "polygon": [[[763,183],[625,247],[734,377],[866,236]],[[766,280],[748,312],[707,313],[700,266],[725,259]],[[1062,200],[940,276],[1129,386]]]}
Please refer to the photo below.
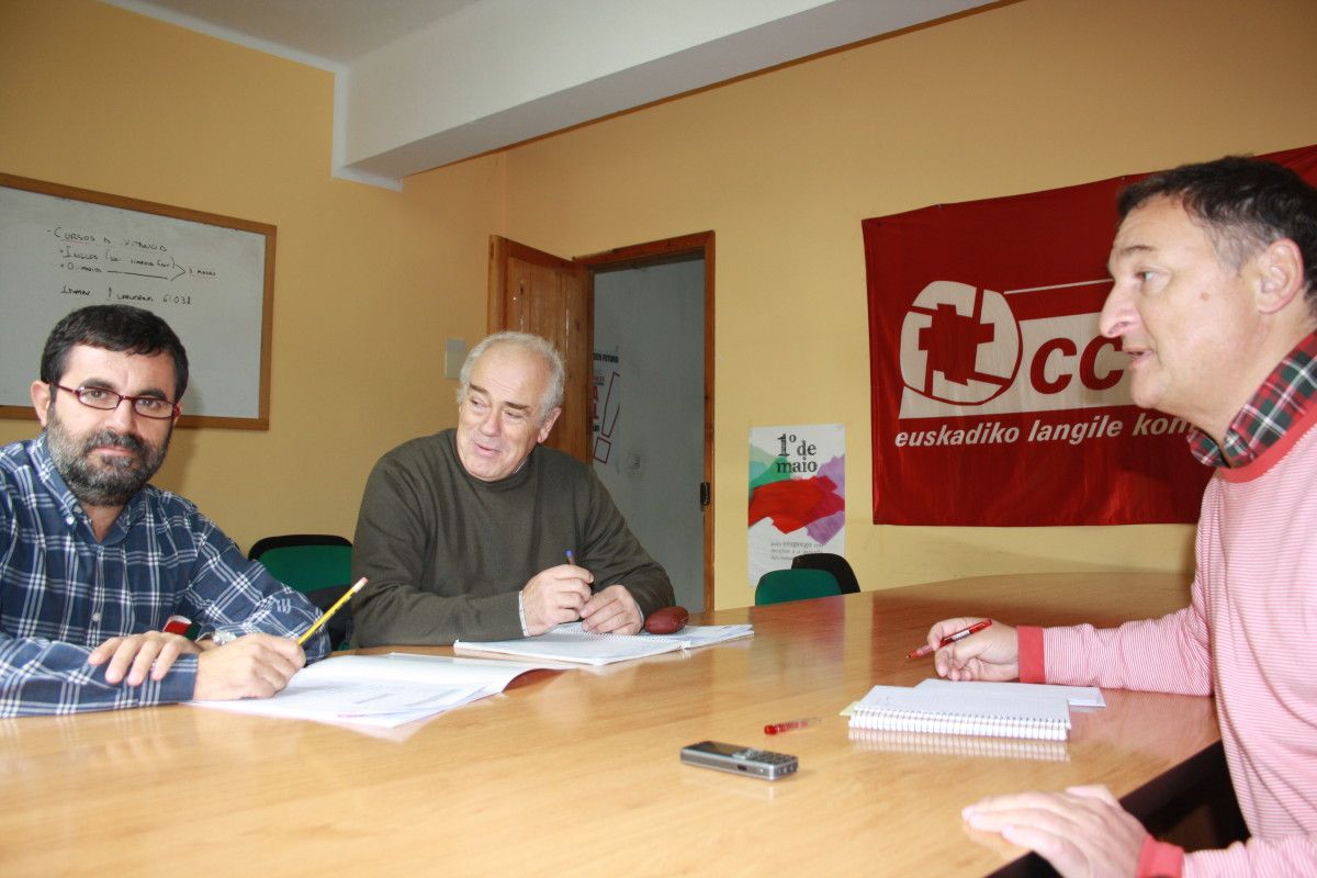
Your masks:
{"label": "dark-bearded man with glasses in blue plaid shirt", "polygon": [[82,308],[46,340],[45,429],[0,449],[0,716],[265,698],[328,652],[323,631],[298,645],[309,602],[148,484],[186,387],[183,345],[141,308]]}

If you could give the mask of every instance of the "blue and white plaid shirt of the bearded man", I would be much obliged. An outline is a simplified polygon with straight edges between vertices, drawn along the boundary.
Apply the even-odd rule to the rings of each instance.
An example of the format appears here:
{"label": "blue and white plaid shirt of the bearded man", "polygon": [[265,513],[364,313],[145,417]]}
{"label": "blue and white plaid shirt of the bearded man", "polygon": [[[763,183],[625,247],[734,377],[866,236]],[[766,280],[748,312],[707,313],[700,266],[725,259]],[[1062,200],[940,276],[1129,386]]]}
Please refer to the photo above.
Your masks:
{"label": "blue and white plaid shirt of the bearded man", "polygon": [[[192,698],[196,656],[161,681],[105,682],[87,656],[111,637],[187,616],[203,634],[296,637],[319,612],[248,561],[180,496],[146,486],[97,542],[45,434],[0,449],[0,716],[74,713]],[[308,661],[328,653],[324,631]]]}

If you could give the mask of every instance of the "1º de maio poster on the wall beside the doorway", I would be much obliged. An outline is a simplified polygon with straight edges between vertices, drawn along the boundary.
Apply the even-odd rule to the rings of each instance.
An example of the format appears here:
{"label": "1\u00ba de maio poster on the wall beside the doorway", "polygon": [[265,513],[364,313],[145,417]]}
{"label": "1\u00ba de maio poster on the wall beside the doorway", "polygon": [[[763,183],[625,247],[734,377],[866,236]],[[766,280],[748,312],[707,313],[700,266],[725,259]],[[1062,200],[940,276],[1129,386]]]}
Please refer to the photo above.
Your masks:
{"label": "1\u00ba de maio poster on the wall beside the doorway", "polygon": [[751,428],[751,584],[806,552],[846,554],[846,428]]}

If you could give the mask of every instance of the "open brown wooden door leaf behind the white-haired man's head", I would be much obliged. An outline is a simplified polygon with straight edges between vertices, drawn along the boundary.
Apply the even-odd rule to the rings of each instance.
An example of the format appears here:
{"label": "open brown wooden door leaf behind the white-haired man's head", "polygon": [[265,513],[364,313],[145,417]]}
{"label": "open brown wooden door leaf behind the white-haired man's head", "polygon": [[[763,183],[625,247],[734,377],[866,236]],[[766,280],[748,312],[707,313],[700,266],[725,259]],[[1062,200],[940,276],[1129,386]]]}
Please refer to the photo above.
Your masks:
{"label": "open brown wooden door leaf behind the white-haired man's head", "polygon": [[544,444],[590,463],[594,275],[589,267],[490,236],[489,332],[548,338],[566,366],[562,415]]}

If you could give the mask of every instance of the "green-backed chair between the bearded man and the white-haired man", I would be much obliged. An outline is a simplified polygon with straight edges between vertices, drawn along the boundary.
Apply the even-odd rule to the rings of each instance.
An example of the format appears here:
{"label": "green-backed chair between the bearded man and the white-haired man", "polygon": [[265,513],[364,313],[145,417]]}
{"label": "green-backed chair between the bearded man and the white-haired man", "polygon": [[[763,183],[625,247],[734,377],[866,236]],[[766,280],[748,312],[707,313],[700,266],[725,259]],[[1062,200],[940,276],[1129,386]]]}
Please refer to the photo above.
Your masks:
{"label": "green-backed chair between the bearded man and the white-haired man", "polygon": [[[329,533],[287,533],[262,537],[248,558],[259,561],[270,575],[300,591],[321,612],[348,591],[352,582],[352,540]],[[352,637],[352,602],[325,623],[332,649]]]}

